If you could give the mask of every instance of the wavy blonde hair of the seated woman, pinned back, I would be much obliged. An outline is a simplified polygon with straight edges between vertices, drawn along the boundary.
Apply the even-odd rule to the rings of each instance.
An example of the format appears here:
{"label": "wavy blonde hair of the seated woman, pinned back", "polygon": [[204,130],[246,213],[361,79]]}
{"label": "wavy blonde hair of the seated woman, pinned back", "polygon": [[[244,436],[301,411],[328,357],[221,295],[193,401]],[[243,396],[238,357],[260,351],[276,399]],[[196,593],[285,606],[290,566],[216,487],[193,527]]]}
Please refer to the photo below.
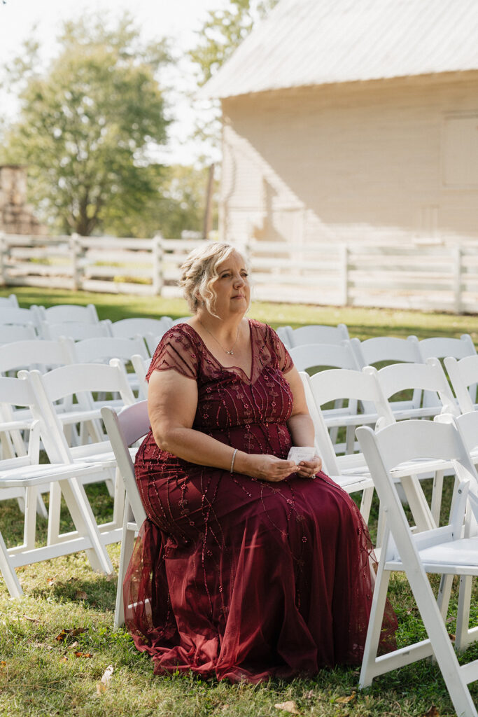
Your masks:
{"label": "wavy blonde hair of the seated woman, pinned back", "polygon": [[192,313],[196,313],[204,301],[209,313],[214,316],[216,292],[212,287],[219,276],[217,267],[236,249],[231,244],[210,242],[194,249],[181,265],[179,285]]}

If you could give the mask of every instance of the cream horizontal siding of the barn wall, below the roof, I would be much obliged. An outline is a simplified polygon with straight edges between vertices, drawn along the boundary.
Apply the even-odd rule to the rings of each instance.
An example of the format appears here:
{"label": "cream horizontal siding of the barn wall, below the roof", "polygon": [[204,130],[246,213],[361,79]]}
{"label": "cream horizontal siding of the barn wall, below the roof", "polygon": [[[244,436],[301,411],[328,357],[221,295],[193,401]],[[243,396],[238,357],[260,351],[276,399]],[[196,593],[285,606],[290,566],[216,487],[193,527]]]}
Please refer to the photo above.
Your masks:
{"label": "cream horizontal siding of the barn wall, below the roof", "polygon": [[223,115],[228,240],[478,237],[478,186],[446,186],[443,151],[449,118],[478,128],[478,72],[244,95]]}

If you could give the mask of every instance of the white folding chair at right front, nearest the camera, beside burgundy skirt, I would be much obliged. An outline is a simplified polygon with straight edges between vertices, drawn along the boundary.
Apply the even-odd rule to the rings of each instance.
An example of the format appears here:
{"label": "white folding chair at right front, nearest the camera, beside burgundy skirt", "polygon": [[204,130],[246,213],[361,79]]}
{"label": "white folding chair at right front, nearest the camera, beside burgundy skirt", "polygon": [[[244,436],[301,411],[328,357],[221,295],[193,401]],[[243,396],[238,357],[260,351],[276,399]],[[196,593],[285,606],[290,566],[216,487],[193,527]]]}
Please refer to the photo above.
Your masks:
{"label": "white folding chair at right front, nearest the camera, beside burgundy skirt", "polygon": [[[478,660],[460,666],[446,630],[449,591],[439,593],[438,602],[426,573],[442,576],[478,575],[478,536],[463,537],[467,494],[477,511],[477,474],[459,432],[453,424],[403,421],[376,434],[359,427],[357,437],[371,470],[381,505],[386,511],[388,531],[381,552],[371,617],[365,642],[360,688],[373,678],[434,655],[457,714],[477,717],[468,684],[478,679]],[[396,492],[392,467],[405,460],[430,457],[453,462],[457,490],[450,521],[446,526],[413,534]],[[386,655],[377,656],[388,582],[392,571],[406,574],[428,638]],[[447,581],[449,585],[449,580]],[[444,581],[442,580],[442,586]]]}

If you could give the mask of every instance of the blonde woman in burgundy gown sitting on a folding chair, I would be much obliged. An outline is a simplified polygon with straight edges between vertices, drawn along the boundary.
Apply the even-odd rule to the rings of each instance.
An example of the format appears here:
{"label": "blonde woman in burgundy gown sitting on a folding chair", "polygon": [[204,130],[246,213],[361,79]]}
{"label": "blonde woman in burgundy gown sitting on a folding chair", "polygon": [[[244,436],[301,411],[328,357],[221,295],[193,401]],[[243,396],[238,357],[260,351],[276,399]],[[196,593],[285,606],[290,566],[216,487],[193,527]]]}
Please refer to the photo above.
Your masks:
{"label": "blonde woman in burgundy gown sitting on a folding chair", "polygon": [[206,244],[182,271],[193,316],[151,361],[135,464],[148,515],[125,580],[135,644],[156,673],[232,681],[358,664],[371,544],[320,458],[287,460],[314,445],[300,376],[272,328],[244,318],[233,247]]}

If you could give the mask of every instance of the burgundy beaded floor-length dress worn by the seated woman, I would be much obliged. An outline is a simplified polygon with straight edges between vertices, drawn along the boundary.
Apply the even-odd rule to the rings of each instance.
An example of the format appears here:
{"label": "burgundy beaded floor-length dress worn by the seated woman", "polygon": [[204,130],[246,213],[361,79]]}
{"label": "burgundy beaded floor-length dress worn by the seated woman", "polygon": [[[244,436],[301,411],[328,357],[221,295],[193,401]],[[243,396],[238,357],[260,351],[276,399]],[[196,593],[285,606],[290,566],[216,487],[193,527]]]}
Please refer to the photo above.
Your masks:
{"label": "burgundy beaded floor-length dress worn by the seated woman", "polygon": [[[277,334],[249,320],[251,376],[224,368],[188,324],[162,338],[150,372],[196,380],[193,428],[249,453],[287,457],[292,368]],[[149,378],[148,374],[148,378]],[[281,483],[140,446],[148,519],[125,579],[125,619],[155,673],[258,682],[359,664],[371,608],[368,531],[324,473]],[[393,615],[383,642],[393,643]]]}

